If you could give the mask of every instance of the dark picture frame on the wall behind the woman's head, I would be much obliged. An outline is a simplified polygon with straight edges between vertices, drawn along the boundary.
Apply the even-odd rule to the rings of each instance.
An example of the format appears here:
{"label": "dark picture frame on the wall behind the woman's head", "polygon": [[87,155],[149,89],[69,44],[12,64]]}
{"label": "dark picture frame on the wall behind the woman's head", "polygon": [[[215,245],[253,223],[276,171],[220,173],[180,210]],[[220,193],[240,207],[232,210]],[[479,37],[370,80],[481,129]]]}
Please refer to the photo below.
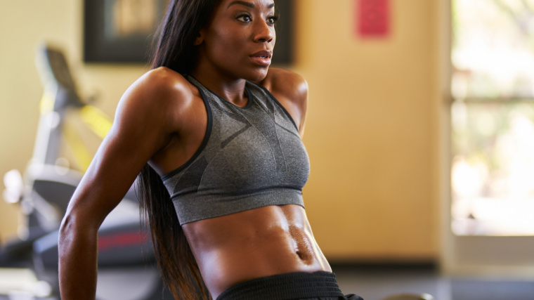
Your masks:
{"label": "dark picture frame on the wall behind the woman's head", "polygon": [[[120,1],[124,0],[84,1],[84,61],[86,63],[148,63],[154,34],[169,0],[147,0],[150,10],[143,10],[143,17],[147,17],[148,13],[149,21],[145,22],[141,30],[137,28],[138,22],[117,21],[117,15],[121,15],[117,13],[117,9],[120,9],[117,8]],[[140,2],[144,3],[138,1]],[[292,63],[293,48],[293,0],[275,0],[275,6],[281,18],[276,25],[277,41],[273,65],[289,65]],[[127,8],[132,9],[131,6]],[[140,11],[141,9],[141,7],[138,8]],[[132,26],[129,27],[129,24]]]}

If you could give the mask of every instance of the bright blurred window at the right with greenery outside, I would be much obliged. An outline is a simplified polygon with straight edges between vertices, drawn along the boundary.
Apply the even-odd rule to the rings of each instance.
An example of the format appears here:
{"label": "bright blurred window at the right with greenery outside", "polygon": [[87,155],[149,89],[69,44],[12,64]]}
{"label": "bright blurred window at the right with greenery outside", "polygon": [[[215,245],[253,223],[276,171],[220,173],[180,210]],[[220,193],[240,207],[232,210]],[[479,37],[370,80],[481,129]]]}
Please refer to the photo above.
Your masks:
{"label": "bright blurred window at the right with greenery outside", "polygon": [[534,235],[534,0],[452,0],[452,231]]}

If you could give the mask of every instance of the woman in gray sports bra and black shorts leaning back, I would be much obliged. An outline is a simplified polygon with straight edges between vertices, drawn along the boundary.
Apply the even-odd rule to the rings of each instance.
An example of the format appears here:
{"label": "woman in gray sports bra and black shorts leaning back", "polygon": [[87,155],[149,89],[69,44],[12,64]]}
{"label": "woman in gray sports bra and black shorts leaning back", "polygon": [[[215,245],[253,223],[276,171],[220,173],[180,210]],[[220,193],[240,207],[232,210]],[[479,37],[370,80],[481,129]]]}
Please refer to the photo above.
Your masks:
{"label": "woman in gray sports bra and black shorts leaning back", "polygon": [[94,299],[98,227],[140,171],[177,299],[346,299],[306,219],[307,85],[269,69],[275,20],[273,0],[171,1],[63,219],[62,299]]}

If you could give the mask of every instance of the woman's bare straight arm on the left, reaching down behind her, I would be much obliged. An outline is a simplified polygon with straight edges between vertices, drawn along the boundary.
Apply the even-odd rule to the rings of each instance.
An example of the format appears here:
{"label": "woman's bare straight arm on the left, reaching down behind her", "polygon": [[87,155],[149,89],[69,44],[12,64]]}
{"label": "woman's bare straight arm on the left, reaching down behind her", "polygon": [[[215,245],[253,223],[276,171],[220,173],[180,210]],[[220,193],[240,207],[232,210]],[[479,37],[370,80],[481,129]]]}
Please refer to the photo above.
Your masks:
{"label": "woman's bare straight arm on the left, reaching down behind her", "polygon": [[110,133],[70,200],[58,244],[63,300],[95,299],[98,228],[176,131],[169,113],[176,86],[164,73],[152,70],[124,93]]}

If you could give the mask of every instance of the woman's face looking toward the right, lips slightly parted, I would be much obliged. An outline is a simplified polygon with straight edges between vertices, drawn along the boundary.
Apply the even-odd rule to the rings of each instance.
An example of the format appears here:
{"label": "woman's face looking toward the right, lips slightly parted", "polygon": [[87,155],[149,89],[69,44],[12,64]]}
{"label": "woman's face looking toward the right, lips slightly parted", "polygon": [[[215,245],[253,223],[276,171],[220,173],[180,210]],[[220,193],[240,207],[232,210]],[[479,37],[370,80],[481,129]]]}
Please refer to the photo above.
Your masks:
{"label": "woman's face looking toward the right, lips slightly parted", "polygon": [[230,79],[260,81],[275,46],[273,0],[221,0],[195,44],[203,71]]}

